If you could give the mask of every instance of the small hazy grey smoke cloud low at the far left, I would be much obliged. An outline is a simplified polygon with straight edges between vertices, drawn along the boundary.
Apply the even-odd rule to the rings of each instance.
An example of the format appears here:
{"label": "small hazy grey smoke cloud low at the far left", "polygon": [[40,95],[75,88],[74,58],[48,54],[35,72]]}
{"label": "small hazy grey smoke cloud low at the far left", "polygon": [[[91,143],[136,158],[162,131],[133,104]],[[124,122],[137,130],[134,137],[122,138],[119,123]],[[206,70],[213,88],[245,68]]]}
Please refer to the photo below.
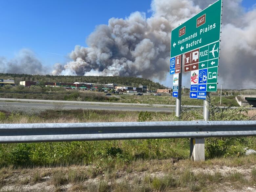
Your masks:
{"label": "small hazy grey smoke cloud low at the far left", "polygon": [[42,63],[36,58],[35,54],[28,49],[22,49],[10,60],[0,57],[0,63],[4,73],[19,74],[44,74],[45,70]]}

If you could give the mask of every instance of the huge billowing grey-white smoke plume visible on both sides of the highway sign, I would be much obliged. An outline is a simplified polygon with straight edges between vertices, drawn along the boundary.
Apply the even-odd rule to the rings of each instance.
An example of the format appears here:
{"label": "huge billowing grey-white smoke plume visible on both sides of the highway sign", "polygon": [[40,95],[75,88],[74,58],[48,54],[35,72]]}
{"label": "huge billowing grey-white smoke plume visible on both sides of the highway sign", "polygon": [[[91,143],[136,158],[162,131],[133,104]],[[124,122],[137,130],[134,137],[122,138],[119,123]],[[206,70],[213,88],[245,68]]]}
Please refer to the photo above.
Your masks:
{"label": "huge billowing grey-white smoke plume visible on both sides of the highway sign", "polygon": [[[97,26],[90,34],[88,47],[75,46],[70,53],[73,61],[55,65],[53,74],[139,76],[164,81],[169,71],[171,30],[213,2],[152,0],[150,18],[141,12],[125,19],[111,18],[108,25]],[[256,81],[256,9],[245,12],[241,2],[224,1],[220,79],[225,86]]]}

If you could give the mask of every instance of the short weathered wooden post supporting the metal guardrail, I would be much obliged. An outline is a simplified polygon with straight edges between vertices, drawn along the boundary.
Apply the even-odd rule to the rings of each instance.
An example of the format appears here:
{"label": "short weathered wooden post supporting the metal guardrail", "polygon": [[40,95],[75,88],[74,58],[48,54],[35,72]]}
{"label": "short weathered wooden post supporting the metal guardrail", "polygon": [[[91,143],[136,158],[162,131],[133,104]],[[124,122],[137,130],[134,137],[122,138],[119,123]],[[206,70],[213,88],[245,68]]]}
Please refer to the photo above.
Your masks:
{"label": "short weathered wooden post supporting the metal guardrail", "polygon": [[190,159],[204,161],[204,138],[190,138]]}

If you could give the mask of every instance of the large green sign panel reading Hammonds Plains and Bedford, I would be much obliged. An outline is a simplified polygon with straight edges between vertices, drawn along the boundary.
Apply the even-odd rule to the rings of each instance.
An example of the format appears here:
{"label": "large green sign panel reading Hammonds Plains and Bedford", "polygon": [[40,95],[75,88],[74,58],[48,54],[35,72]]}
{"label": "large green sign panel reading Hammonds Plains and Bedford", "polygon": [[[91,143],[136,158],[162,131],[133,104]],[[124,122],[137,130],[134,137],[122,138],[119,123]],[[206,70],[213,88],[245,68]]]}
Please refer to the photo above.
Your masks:
{"label": "large green sign panel reading Hammonds Plains and Bedford", "polygon": [[[221,11],[222,0],[218,0],[185,23],[181,24],[179,27],[172,30],[171,57],[181,55],[219,41],[221,31]],[[209,47],[207,53],[209,54],[209,57],[212,48],[213,47]],[[219,48],[219,46],[215,45],[214,49],[216,48]],[[206,50],[204,51],[206,53]],[[216,53],[216,51],[214,53]],[[202,55],[202,57],[206,57],[206,55]]]}

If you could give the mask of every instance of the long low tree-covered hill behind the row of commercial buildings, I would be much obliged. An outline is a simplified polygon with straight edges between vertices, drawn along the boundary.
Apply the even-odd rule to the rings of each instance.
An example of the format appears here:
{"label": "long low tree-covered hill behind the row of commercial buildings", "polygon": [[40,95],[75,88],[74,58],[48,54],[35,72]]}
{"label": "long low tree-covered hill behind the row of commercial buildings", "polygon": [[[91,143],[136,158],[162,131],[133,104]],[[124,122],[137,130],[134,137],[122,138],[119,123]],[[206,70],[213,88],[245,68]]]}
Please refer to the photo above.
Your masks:
{"label": "long low tree-covered hill behind the row of commercial buildings", "polygon": [[163,85],[158,82],[153,82],[149,79],[139,77],[120,77],[120,76],[66,76],[66,75],[28,75],[28,74],[4,74],[0,73],[0,79],[13,79],[15,84],[20,81],[42,81],[42,82],[87,82],[87,83],[116,83],[119,86],[127,85],[138,87],[139,85],[146,85],[150,89],[162,89]]}

